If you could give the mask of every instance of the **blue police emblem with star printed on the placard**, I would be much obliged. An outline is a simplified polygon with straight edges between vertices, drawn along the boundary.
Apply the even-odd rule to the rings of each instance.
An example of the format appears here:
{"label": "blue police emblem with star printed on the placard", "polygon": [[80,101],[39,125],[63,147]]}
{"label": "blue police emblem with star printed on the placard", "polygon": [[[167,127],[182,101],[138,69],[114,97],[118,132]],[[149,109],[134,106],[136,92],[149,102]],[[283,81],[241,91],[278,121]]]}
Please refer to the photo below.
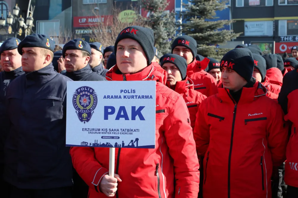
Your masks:
{"label": "blue police emblem with star printed on the placard", "polygon": [[97,105],[97,95],[91,87],[80,87],[72,96],[72,104],[81,122],[89,122]]}

